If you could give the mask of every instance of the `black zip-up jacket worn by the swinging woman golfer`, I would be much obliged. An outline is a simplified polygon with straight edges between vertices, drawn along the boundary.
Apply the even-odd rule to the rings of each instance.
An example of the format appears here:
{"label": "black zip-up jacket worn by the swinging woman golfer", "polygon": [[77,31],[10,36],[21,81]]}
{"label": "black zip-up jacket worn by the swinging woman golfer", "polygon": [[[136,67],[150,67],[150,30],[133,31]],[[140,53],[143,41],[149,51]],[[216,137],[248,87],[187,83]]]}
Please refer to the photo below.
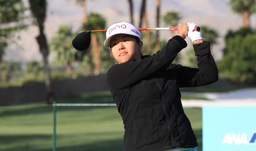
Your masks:
{"label": "black zip-up jacket worn by the swinging woman golfer", "polygon": [[107,85],[125,128],[124,151],[198,146],[179,88],[212,84],[218,81],[218,69],[208,41],[193,45],[198,68],[172,64],[186,46],[182,37],[174,36],[152,56],[108,70]]}

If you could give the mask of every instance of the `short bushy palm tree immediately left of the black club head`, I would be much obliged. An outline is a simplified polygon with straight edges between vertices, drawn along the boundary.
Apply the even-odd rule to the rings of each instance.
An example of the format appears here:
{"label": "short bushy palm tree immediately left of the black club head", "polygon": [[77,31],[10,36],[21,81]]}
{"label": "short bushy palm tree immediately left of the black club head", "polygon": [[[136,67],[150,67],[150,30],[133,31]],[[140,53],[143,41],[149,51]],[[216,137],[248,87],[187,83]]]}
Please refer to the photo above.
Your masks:
{"label": "short bushy palm tree immediately left of the black club head", "polygon": [[75,33],[72,32],[71,27],[61,25],[50,43],[50,50],[56,53],[56,61],[67,65],[67,73],[72,71],[72,62],[81,61],[83,57],[82,51],[73,48],[72,39],[74,36]]}

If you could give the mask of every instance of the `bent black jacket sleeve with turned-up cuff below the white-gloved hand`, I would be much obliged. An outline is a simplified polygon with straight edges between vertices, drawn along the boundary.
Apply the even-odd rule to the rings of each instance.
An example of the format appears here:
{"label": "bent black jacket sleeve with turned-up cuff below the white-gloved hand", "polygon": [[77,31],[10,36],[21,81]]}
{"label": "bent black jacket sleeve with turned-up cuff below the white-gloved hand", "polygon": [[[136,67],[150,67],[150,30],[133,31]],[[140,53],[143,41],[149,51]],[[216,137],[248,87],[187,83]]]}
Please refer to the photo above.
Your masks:
{"label": "bent black jacket sleeve with turned-up cuff below the white-gloved hand", "polygon": [[176,68],[180,87],[200,87],[218,81],[218,69],[211,55],[210,42],[193,45],[198,68],[173,64]]}

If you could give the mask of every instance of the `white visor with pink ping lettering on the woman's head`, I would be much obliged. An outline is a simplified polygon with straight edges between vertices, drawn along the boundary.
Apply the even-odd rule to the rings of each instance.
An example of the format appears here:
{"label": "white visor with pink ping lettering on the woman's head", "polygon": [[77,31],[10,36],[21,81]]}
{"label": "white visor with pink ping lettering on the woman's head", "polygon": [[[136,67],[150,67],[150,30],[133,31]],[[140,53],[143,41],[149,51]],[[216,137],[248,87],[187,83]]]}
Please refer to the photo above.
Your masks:
{"label": "white visor with pink ping lettering on the woman's head", "polygon": [[132,36],[136,36],[140,39],[140,31],[134,25],[128,22],[116,22],[111,25],[106,32],[106,40],[104,42],[105,47],[110,47],[110,40],[112,36],[116,34],[128,34]]}

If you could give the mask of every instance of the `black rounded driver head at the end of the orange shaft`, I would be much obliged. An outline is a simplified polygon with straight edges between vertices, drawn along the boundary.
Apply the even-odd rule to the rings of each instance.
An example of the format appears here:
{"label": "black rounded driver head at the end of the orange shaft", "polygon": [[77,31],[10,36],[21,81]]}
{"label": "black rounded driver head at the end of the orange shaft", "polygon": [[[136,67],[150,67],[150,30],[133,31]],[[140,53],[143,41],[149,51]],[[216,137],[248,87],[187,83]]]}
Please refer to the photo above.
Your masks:
{"label": "black rounded driver head at the end of the orange shaft", "polygon": [[72,45],[76,50],[83,51],[89,48],[91,41],[90,31],[77,34],[72,40]]}

